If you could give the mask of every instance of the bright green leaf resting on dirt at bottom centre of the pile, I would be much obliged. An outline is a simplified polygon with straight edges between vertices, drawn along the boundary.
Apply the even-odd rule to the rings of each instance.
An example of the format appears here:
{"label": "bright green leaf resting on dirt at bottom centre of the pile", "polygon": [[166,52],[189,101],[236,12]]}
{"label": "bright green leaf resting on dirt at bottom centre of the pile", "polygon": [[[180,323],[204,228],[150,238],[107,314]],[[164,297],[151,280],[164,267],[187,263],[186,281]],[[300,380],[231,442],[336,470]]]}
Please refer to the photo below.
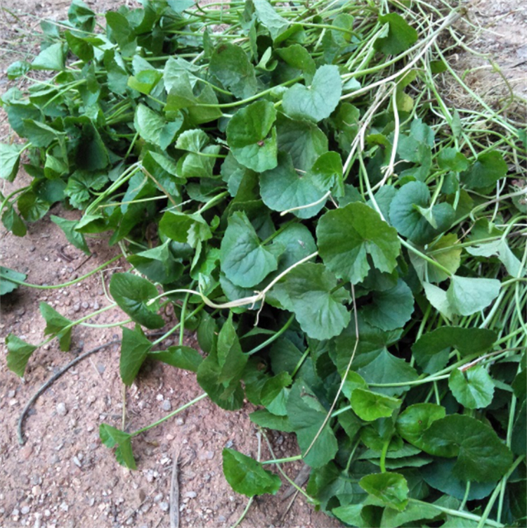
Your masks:
{"label": "bright green leaf resting on dirt at bottom centre of the pile", "polygon": [[235,449],[222,451],[223,474],[236,493],[252,497],[255,495],[275,495],[282,482],[278,475],[264,470],[261,463],[245,456]]}

